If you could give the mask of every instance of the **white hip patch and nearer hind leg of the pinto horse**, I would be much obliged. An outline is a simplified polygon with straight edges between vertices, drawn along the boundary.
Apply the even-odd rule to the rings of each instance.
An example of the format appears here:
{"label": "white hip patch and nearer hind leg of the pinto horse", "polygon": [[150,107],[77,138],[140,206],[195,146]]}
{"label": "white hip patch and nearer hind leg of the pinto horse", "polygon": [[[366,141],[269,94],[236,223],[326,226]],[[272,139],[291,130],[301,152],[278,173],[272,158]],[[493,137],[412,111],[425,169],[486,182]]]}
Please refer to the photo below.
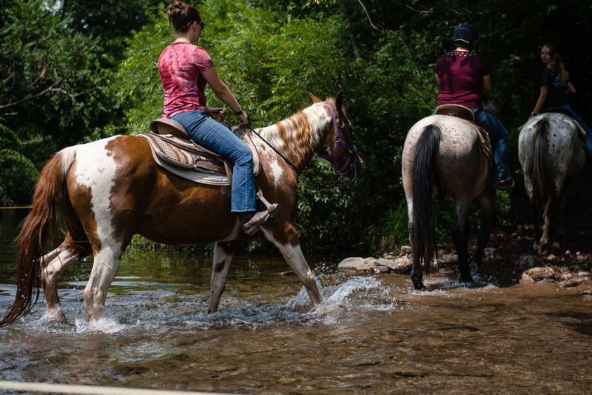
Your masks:
{"label": "white hip patch and nearer hind leg of the pinto horse", "polygon": [[[101,317],[107,288],[115,278],[121,262],[123,242],[115,239],[110,207],[117,163],[106,149],[107,144],[117,138],[83,144],[76,154],[76,181],[91,190],[96,235],[101,243],[100,246],[94,246],[94,264],[84,290],[86,320]],[[96,250],[98,248],[99,251]]]}

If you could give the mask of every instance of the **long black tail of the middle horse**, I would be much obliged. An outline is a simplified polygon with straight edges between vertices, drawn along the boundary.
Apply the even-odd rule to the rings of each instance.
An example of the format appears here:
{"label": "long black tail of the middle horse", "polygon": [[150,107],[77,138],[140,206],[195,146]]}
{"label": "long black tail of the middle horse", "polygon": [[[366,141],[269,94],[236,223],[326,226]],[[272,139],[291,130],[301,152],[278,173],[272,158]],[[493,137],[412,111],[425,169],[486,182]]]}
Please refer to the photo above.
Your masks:
{"label": "long black tail of the middle horse", "polygon": [[433,215],[432,188],[436,183],[435,154],[440,146],[442,132],[435,125],[428,125],[416,143],[413,160],[413,222],[411,246],[413,253],[423,261],[429,272],[436,255],[436,237]]}

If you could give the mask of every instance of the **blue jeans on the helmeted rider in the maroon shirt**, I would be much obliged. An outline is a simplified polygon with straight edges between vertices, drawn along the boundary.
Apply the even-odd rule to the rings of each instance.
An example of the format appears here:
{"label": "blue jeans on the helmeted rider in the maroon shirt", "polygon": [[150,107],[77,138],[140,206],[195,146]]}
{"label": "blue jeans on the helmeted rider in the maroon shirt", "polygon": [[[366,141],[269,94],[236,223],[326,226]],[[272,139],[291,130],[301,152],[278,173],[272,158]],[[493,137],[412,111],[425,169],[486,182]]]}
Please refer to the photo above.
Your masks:
{"label": "blue jeans on the helmeted rider in the maroon shirt", "polygon": [[475,114],[477,124],[489,134],[491,149],[493,150],[493,178],[510,178],[510,165],[507,158],[508,131],[506,127],[487,110],[471,108],[471,111]]}

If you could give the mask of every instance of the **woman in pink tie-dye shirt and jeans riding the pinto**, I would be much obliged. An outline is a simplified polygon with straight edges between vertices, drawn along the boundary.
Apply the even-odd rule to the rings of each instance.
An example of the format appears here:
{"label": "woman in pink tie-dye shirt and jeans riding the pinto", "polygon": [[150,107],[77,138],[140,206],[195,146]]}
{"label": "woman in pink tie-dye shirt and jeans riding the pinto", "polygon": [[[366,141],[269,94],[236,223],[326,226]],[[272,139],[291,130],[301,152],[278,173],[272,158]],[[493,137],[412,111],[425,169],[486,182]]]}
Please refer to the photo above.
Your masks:
{"label": "woman in pink tie-dye shirt and jeans riding the pinto", "polygon": [[176,40],[160,53],[158,60],[165,94],[162,116],[177,121],[192,140],[233,163],[231,211],[237,213],[247,234],[255,233],[269,219],[269,211],[256,211],[253,155],[239,137],[212,118],[223,115],[224,109],[207,107],[205,85],[210,85],[243,125],[248,122],[247,114],[221,81],[210,55],[193,44],[200,40],[205,26],[200,12],[181,0],[170,4],[166,12]]}

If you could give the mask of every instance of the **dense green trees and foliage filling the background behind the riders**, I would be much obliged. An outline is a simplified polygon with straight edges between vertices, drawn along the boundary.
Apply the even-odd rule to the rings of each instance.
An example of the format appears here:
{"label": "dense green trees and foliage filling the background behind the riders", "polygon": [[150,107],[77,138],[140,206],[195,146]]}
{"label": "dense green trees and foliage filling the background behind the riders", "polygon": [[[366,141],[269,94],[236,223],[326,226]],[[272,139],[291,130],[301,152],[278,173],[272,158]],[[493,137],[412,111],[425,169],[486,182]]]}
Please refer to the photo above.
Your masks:
{"label": "dense green trees and foliage filling the background behind the riders", "polygon": [[[117,133],[143,133],[162,109],[160,51],[173,40],[161,0],[29,0],[0,13],[0,200],[26,203],[37,170],[56,150]],[[253,127],[266,126],[320,98],[345,92],[365,165],[358,184],[334,187],[315,159],[300,178],[297,224],[306,245],[395,249],[407,243],[401,150],[407,130],[436,104],[433,64],[450,49],[453,27],[471,21],[477,50],[492,70],[500,118],[517,165],[517,126],[532,110],[554,41],[572,81],[572,99],[592,118],[592,54],[587,0],[216,0],[195,2],[214,59]],[[566,24],[565,21],[570,23]],[[220,105],[207,90],[208,103]],[[230,123],[236,122],[233,114]],[[497,226],[514,216],[516,190],[498,192]],[[452,211],[436,206],[437,237],[449,240]],[[471,219],[476,225],[476,214]],[[141,246],[141,242],[135,242]],[[259,248],[259,245],[253,248]],[[143,246],[143,248],[148,248]]]}

